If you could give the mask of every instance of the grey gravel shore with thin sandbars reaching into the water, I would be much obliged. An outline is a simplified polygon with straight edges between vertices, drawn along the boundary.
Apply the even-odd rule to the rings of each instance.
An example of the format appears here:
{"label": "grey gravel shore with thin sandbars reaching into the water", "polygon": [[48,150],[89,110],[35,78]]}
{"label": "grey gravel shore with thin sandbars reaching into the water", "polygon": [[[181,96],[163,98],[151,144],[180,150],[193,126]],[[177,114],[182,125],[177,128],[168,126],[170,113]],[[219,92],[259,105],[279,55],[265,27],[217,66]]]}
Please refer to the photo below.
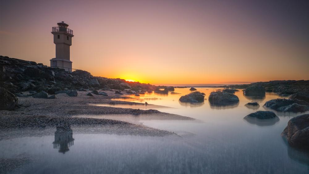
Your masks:
{"label": "grey gravel shore with thin sandbars reaching into the water", "polygon": [[[125,128],[129,134],[145,136],[163,136],[173,134],[168,131],[132,124],[116,119],[117,115],[124,114],[130,117],[154,117],[163,120],[194,120],[176,114],[159,112],[149,109],[115,108],[106,106],[94,106],[91,104],[141,104],[126,101],[115,101],[110,98],[119,96],[108,92],[109,96],[87,96],[87,91],[79,91],[77,97],[69,97],[66,94],[57,94],[57,99],[23,98],[19,97],[19,108],[14,111],[0,111],[0,129],[61,125],[105,125]],[[122,97],[122,96],[120,96]],[[98,119],[78,117],[79,115],[112,115],[115,119]],[[132,131],[128,131],[132,129]],[[121,133],[124,134],[124,133]]]}

